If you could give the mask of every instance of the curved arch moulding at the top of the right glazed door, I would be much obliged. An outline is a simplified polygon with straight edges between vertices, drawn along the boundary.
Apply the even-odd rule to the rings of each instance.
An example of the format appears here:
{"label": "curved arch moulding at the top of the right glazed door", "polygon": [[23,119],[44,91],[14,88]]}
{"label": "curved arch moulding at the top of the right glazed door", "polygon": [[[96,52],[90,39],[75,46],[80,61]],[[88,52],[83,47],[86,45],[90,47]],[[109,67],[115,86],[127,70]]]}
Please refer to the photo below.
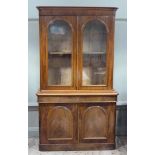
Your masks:
{"label": "curved arch moulding at the top of the right glazed door", "polygon": [[82,29],[83,29],[83,31],[85,31],[86,28],[89,29],[91,27],[95,27],[98,30],[102,30],[104,33],[109,32],[109,29],[108,29],[108,26],[106,25],[106,23],[103,20],[100,20],[98,18],[90,19],[90,20],[86,21],[83,24]]}

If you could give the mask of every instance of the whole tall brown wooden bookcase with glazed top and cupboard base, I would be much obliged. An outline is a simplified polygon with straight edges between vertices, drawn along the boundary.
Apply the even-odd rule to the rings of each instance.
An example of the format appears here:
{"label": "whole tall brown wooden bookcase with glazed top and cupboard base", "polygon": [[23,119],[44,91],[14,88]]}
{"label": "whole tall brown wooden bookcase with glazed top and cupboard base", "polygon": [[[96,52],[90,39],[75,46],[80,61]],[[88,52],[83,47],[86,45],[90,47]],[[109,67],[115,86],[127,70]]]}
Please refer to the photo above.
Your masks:
{"label": "whole tall brown wooden bookcase with glazed top and cupboard base", "polygon": [[39,149],[115,148],[114,7],[37,7]]}

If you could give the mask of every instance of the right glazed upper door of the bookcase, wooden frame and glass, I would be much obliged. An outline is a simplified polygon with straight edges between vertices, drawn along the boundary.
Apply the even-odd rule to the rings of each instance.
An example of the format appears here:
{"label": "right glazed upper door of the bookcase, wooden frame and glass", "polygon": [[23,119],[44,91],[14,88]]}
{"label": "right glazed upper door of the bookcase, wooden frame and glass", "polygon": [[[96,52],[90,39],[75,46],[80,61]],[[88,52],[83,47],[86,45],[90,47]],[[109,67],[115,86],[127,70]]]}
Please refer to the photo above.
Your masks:
{"label": "right glazed upper door of the bookcase, wooden frame and glass", "polygon": [[111,87],[110,22],[108,17],[78,18],[78,85],[79,89]]}

